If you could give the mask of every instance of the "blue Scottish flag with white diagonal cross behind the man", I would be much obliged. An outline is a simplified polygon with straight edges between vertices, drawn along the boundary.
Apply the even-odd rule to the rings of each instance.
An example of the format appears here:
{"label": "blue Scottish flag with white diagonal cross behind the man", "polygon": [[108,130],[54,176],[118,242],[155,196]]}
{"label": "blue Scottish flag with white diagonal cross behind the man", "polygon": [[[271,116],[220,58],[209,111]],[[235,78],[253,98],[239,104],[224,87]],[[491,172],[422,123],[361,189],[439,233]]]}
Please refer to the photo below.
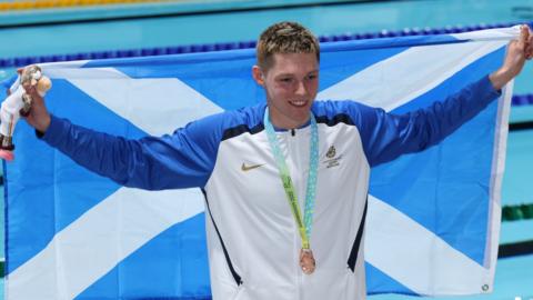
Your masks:
{"label": "blue Scottish flag with white diagonal cross behind the man", "polygon": [[[497,69],[516,29],[322,44],[320,99],[405,112]],[[42,64],[52,113],[161,136],[264,101],[253,50]],[[512,84],[436,147],[372,170],[369,293],[490,292]],[[201,191],[124,188],[16,128],[4,163],[6,299],[210,299]],[[83,149],[80,149],[83,151]],[[289,209],[289,208],[288,208]]]}

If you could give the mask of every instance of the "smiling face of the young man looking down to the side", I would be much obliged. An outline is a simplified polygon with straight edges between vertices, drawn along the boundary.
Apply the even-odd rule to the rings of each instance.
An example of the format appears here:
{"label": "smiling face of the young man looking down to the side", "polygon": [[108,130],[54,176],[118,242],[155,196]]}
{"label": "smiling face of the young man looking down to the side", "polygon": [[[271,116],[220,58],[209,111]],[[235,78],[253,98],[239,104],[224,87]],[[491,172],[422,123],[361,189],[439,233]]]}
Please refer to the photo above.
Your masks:
{"label": "smiling face of the young man looking down to the side", "polygon": [[319,62],[314,53],[275,53],[268,70],[254,66],[252,71],[266,91],[275,127],[298,128],[309,120],[319,89]]}

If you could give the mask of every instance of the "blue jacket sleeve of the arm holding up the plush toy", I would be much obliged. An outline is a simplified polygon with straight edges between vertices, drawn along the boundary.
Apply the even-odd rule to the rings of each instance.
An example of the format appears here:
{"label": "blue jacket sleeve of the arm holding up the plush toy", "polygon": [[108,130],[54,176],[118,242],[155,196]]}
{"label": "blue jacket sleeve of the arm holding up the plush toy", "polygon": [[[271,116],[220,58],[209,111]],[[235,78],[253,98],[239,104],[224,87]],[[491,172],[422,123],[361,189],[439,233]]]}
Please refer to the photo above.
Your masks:
{"label": "blue jacket sleeve of the arm holding up the plush toy", "polygon": [[205,186],[217,158],[221,114],[170,136],[128,140],[52,116],[42,139],[87,169],[125,187],[148,190]]}

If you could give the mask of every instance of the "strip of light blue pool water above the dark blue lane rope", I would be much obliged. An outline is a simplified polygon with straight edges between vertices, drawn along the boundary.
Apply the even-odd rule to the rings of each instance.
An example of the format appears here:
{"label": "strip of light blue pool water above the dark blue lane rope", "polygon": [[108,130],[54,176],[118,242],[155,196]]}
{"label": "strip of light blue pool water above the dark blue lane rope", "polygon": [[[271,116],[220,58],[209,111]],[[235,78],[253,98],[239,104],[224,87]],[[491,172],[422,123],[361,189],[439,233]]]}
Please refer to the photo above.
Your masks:
{"label": "strip of light blue pool water above the dark blue lane rope", "polygon": [[[258,1],[225,2],[225,6],[232,7],[239,2]],[[295,1],[284,2],[292,3]],[[264,28],[281,20],[299,21],[319,36],[345,32],[375,32],[383,29],[401,30],[415,27],[441,28],[457,24],[525,22],[530,20],[526,18],[529,16],[516,12],[516,8],[523,6],[523,0],[378,1],[374,3],[76,23],[53,27],[19,27],[0,30],[1,41],[10,41],[9,47],[0,48],[0,57],[255,40],[259,32]],[[161,6],[157,7],[161,8]],[[209,8],[210,6],[205,6],[205,9]],[[145,9],[141,7],[139,10]],[[113,9],[108,7],[94,13],[110,14],[111,11]],[[40,18],[48,17],[50,19],[50,14],[59,14],[59,12],[41,13]],[[86,10],[78,12],[68,11],[69,16],[76,16],[76,13],[87,14]],[[11,16],[4,14],[4,19],[7,19],[4,22],[12,18],[21,18],[20,14],[14,12]],[[27,16],[27,13],[22,13],[22,16]],[[1,17],[2,14],[0,14],[0,24],[2,23]]]}

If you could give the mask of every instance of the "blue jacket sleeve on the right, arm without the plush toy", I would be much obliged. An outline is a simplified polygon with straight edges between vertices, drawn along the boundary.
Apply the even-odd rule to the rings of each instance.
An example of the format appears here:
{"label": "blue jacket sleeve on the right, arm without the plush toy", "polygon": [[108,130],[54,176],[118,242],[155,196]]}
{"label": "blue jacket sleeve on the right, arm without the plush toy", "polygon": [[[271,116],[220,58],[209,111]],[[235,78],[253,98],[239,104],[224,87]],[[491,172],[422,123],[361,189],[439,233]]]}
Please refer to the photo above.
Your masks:
{"label": "blue jacket sleeve on the right, arm without the plush toy", "polygon": [[374,167],[440,142],[499,96],[500,91],[484,77],[425,109],[393,114],[358,104],[351,114],[359,126],[369,163]]}

